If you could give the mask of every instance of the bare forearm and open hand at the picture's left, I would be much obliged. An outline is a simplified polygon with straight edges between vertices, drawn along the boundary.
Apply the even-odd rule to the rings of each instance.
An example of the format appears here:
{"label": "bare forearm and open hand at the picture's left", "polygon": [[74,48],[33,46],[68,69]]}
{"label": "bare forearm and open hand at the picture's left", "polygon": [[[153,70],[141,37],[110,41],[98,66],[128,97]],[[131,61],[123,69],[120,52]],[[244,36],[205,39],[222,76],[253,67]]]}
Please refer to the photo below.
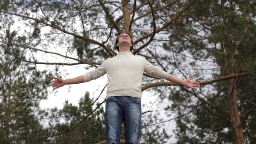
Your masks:
{"label": "bare forearm and open hand at the picture's left", "polygon": [[61,78],[57,78],[57,77],[53,77],[53,79],[55,80],[52,80],[51,81],[51,85],[53,87],[53,90],[57,89],[57,88],[60,88],[64,85],[71,85],[71,84],[79,84],[79,83],[83,83],[84,82],[84,77],[83,75],[81,76],[78,76],[76,78],[73,78],[73,79],[61,79]]}

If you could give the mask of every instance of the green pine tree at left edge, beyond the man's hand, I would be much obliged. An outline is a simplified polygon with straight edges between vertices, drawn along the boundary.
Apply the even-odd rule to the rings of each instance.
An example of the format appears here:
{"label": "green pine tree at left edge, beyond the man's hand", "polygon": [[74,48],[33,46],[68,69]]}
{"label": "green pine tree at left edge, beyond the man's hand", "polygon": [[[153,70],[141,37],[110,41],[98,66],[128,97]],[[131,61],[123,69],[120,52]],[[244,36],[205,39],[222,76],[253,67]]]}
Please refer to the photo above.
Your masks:
{"label": "green pine tree at left edge, beyond the man's hand", "polygon": [[[7,30],[1,41],[19,40],[16,31]],[[47,98],[51,73],[16,59],[26,51],[10,44],[0,45],[0,143],[30,143],[43,131],[38,121],[39,102]]]}

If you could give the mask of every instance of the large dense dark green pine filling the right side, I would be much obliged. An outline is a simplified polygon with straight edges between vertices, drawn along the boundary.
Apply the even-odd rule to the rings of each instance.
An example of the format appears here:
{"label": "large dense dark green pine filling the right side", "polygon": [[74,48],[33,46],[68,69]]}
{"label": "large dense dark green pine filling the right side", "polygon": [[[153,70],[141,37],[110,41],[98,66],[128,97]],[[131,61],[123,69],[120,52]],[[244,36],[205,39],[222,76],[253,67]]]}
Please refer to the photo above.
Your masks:
{"label": "large dense dark green pine filling the right side", "polygon": [[[197,1],[195,8],[177,22],[179,25],[172,27],[177,34],[170,36],[170,51],[182,53],[185,49],[195,59],[190,64],[194,69],[198,68],[197,63],[208,63],[210,70],[198,70],[198,73],[208,73],[213,78],[251,73],[250,78],[233,76],[227,81],[203,86],[200,92],[186,89],[173,92],[170,100],[174,104],[168,109],[188,116],[176,121],[177,143],[255,143],[252,121],[256,108],[254,5],[255,2],[240,0]],[[180,42],[171,42],[177,39]]]}

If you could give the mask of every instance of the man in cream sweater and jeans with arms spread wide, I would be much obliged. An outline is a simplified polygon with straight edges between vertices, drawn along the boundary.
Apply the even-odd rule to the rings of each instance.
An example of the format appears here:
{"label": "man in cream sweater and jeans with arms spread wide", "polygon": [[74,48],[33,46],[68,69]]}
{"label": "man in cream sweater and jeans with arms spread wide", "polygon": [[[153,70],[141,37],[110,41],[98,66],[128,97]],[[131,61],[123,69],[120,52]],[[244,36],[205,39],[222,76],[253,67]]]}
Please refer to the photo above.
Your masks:
{"label": "man in cream sweater and jeans with arms spread wide", "polygon": [[126,144],[138,144],[141,130],[141,83],[143,72],[171,82],[197,89],[199,82],[191,82],[178,79],[158,67],[149,63],[146,59],[134,56],[133,40],[129,33],[122,33],[116,38],[118,54],[108,58],[97,69],[88,74],[73,79],[60,79],[52,81],[53,89],[63,85],[78,84],[97,79],[105,73],[108,75],[108,87],[105,109],[105,124],[107,144],[119,144],[121,124],[125,124]]}

